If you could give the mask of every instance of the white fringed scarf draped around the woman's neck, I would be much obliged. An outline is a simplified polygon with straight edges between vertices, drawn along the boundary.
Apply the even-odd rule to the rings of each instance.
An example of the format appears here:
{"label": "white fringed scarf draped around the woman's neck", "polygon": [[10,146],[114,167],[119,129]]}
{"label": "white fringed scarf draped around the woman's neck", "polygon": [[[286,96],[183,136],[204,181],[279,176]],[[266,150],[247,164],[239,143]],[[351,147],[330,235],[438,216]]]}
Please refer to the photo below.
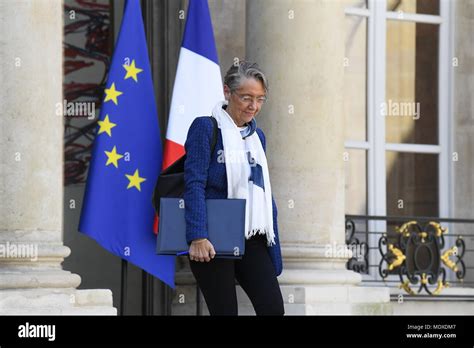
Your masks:
{"label": "white fringed scarf draped around the woman's neck", "polygon": [[[267,157],[257,132],[242,139],[239,128],[230,115],[222,108],[226,101],[219,102],[212,110],[212,116],[221,129],[224,153],[218,154],[218,161],[225,161],[227,172],[227,198],[241,198],[245,205],[245,238],[255,234],[266,234],[267,245],[275,244],[273,231],[272,188],[268,173]],[[251,158],[254,160],[249,162]],[[263,190],[249,181],[251,167],[255,173],[263,174]]]}

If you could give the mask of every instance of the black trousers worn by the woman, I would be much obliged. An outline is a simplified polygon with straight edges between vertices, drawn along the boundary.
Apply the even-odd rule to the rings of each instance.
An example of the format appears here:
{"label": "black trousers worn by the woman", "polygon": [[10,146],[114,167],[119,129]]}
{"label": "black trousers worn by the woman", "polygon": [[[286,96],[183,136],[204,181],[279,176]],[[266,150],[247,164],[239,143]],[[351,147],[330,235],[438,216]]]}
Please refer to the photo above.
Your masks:
{"label": "black trousers worn by the woman", "polygon": [[283,297],[266,247],[266,237],[245,241],[242,259],[189,261],[211,315],[237,315],[235,280],[250,298],[257,315],[284,315]]}

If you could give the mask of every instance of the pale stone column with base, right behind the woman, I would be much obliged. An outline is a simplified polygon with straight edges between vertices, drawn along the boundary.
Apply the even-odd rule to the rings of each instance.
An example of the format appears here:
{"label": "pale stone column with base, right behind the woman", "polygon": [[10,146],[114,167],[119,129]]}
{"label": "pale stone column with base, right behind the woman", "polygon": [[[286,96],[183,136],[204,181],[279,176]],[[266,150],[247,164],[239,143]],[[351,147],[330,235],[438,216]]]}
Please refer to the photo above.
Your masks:
{"label": "pale stone column with base, right behind the woman", "polygon": [[270,83],[257,122],[279,206],[288,314],[390,312],[388,289],[356,286],[361,276],[346,270],[348,257],[326,255],[345,243],[344,6],[247,2],[247,59]]}

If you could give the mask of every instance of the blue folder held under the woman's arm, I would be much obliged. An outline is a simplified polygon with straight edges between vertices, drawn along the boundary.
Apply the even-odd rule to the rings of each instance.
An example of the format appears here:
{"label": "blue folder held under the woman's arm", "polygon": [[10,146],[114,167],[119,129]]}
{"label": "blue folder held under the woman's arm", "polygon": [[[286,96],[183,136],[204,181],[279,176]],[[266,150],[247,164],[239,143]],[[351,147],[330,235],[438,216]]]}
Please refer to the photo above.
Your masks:
{"label": "blue folder held under the woman's arm", "polygon": [[[156,253],[179,255],[189,250],[186,242],[184,199],[160,199],[160,223]],[[216,257],[241,258],[245,253],[245,199],[206,199],[207,232]]]}

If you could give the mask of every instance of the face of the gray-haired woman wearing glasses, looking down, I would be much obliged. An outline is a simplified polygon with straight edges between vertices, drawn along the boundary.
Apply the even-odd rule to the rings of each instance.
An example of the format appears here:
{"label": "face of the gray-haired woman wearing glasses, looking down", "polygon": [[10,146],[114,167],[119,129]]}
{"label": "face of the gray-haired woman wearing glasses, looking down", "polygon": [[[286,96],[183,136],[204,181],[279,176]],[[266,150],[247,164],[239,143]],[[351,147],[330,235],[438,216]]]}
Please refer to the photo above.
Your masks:
{"label": "face of the gray-haired woman wearing glasses, looking down", "polygon": [[265,102],[262,82],[254,78],[242,80],[240,87],[234,92],[224,85],[224,94],[229,101],[227,113],[239,127],[250,122],[260,112]]}

